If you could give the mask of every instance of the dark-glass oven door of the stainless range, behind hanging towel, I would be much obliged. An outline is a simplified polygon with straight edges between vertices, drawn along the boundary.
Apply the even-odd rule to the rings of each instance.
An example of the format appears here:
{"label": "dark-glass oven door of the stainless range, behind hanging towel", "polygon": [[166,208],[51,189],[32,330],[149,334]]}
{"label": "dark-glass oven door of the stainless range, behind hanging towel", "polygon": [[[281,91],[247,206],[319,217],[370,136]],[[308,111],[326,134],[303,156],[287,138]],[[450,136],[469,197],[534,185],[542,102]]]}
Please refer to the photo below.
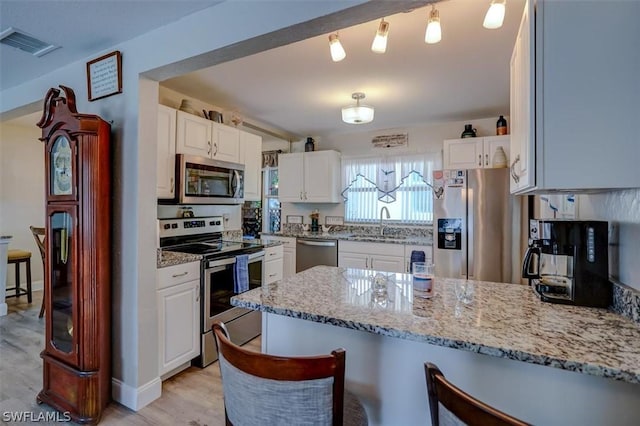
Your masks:
{"label": "dark-glass oven door of the stainless range, behind hanging towel", "polygon": [[[249,255],[249,290],[262,285],[262,263],[264,251]],[[202,332],[211,331],[214,321],[230,322],[250,312],[245,308],[231,306],[233,291],[233,269],[235,257],[209,261],[204,270],[204,292]]]}

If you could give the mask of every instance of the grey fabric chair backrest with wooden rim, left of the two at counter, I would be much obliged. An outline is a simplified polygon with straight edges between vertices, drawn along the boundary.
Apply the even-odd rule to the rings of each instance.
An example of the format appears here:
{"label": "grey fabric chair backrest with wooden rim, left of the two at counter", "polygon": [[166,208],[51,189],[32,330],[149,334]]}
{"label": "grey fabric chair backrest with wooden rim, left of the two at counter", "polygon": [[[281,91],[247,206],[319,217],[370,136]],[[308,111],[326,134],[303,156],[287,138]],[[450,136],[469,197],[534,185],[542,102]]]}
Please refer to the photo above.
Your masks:
{"label": "grey fabric chair backrest with wooden rim, left of the two at counter", "polygon": [[280,357],[249,351],[213,324],[227,425],[342,425],[345,351]]}

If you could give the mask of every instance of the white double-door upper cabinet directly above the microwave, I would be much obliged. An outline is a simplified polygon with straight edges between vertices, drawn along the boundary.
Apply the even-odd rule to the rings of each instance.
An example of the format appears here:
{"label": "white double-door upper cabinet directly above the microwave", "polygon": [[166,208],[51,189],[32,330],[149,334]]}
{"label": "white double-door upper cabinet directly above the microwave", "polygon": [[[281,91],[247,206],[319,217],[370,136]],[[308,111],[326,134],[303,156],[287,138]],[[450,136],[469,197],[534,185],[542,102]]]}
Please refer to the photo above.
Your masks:
{"label": "white double-door upper cabinet directly above the microwave", "polygon": [[240,131],[197,115],[178,111],[176,152],[240,162]]}

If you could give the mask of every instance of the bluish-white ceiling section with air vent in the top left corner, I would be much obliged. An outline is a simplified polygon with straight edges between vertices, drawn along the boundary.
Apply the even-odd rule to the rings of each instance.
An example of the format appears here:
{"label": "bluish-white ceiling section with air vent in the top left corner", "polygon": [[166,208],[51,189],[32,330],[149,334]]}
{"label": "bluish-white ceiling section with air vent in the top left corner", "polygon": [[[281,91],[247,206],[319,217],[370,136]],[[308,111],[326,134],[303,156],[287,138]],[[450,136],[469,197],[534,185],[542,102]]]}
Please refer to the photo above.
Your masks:
{"label": "bluish-white ceiling section with air vent in the top left corner", "polygon": [[0,45],[0,90],[205,9],[221,0],[0,0],[0,32],[19,29],[61,46],[37,58]]}

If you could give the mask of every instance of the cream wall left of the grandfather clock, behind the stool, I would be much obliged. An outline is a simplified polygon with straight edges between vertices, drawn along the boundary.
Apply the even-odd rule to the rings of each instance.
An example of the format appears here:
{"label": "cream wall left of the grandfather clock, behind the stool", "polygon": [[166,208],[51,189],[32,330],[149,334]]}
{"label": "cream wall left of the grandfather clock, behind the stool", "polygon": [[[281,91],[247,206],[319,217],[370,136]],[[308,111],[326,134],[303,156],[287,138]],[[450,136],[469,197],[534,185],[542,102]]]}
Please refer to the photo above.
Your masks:
{"label": "cream wall left of the grandfather clock, behind the stool", "polygon": [[[0,235],[12,235],[9,249],[31,252],[33,289],[43,283],[42,260],[29,226],[44,226],[44,144],[36,126],[0,124]],[[7,287],[15,284],[15,268],[7,274]],[[20,281],[26,288],[24,264]]]}

